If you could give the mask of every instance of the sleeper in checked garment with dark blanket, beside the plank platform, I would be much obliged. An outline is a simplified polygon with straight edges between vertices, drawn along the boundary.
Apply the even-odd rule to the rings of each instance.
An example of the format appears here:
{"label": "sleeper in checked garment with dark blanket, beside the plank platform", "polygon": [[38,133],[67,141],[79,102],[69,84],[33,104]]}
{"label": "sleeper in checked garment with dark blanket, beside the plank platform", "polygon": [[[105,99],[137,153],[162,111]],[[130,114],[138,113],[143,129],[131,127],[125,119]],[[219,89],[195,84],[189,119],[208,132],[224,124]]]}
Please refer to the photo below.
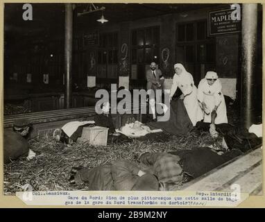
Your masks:
{"label": "sleeper in checked garment with dark blanket, beside the plank platform", "polygon": [[174,191],[183,182],[198,178],[238,155],[241,152],[237,150],[218,155],[210,148],[198,147],[169,153],[144,153],[138,162],[142,171],[157,176],[160,190]]}

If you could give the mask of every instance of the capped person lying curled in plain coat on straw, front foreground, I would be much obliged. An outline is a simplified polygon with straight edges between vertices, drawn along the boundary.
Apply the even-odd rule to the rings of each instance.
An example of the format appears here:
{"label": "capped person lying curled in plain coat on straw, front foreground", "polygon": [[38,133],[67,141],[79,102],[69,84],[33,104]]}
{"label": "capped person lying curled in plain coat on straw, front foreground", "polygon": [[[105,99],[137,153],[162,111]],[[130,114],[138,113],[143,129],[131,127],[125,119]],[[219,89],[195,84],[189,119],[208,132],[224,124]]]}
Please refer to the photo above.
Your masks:
{"label": "capped person lying curled in plain coat on straw, front foreground", "polygon": [[89,190],[157,191],[159,183],[151,173],[140,170],[136,164],[119,159],[92,169],[71,169],[70,183],[82,185],[87,182]]}

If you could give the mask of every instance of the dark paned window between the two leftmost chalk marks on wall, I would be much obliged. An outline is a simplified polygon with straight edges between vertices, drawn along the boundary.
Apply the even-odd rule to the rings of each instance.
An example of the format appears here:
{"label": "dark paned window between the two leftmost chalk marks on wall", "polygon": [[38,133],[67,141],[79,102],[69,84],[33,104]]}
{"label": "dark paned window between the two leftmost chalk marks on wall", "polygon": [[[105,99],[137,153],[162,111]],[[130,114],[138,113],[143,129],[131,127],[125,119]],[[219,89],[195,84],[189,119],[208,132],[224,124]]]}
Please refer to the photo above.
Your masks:
{"label": "dark paned window between the two leftmost chalk marks on wall", "polygon": [[101,33],[99,36],[97,77],[117,78],[118,33]]}

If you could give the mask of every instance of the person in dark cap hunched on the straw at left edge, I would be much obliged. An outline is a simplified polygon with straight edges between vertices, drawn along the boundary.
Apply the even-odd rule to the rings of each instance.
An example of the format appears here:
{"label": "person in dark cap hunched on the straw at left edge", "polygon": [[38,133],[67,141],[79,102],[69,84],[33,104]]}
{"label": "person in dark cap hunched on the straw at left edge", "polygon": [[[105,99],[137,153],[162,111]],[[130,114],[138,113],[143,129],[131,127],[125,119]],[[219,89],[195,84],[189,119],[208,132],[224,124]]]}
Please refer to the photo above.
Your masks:
{"label": "person in dark cap hunched on the straw at left edge", "polygon": [[3,130],[3,162],[5,164],[19,157],[26,157],[27,160],[35,157],[26,139],[31,127],[31,121],[28,119],[17,119],[12,130]]}

